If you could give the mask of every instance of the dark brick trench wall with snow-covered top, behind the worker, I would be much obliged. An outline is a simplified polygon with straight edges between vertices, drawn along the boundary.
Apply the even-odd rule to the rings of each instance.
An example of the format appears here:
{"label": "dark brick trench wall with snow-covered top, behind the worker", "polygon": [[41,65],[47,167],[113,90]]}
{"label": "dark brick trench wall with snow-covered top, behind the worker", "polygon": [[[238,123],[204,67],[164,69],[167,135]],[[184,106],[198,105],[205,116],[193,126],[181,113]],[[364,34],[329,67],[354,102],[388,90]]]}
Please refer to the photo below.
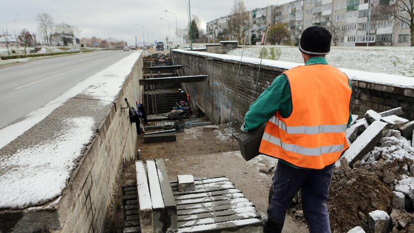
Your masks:
{"label": "dark brick trench wall with snow-covered top, behind the worker", "polygon": [[[249,105],[272,83],[273,79],[285,70],[300,65],[263,60],[257,88],[255,88],[260,59],[243,58],[236,92],[234,92],[240,57],[182,50],[172,50],[171,53],[175,64],[183,65],[181,75],[208,75],[207,82],[185,85],[193,106],[197,105],[216,124],[228,122],[231,108],[233,108],[231,120],[243,122]],[[388,81],[383,82],[388,78],[381,77],[380,82],[377,82],[376,73],[342,70],[352,82],[351,112],[353,114],[362,117],[369,109],[383,112],[402,107],[404,117],[414,119],[414,78],[387,76]],[[397,80],[396,84],[393,84],[394,78]]]}

